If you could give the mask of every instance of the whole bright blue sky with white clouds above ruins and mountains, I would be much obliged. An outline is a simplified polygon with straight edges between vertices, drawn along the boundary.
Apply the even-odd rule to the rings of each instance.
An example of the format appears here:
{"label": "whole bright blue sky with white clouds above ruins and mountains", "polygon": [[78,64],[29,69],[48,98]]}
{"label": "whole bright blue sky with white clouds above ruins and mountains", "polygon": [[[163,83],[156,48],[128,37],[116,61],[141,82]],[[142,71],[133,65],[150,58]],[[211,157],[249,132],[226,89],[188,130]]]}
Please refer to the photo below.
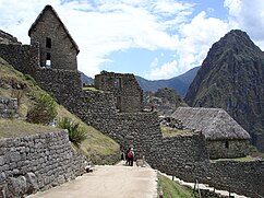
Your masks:
{"label": "whole bright blue sky with white clouds above ruins and mountains", "polygon": [[27,31],[51,4],[77,43],[79,70],[169,79],[200,66],[232,28],[264,47],[263,0],[0,0],[0,30],[29,43]]}

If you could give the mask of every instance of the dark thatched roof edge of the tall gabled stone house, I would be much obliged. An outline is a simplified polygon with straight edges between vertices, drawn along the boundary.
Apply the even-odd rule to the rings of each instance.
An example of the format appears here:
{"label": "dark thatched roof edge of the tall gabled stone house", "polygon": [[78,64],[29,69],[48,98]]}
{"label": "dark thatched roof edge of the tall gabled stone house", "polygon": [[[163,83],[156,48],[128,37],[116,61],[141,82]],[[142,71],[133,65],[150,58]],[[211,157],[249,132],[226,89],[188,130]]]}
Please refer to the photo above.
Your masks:
{"label": "dark thatched roof edge of the tall gabled stone house", "polygon": [[72,36],[70,35],[69,31],[67,30],[65,25],[62,23],[62,21],[60,20],[59,15],[57,14],[57,12],[55,11],[55,9],[47,4],[44,10],[40,12],[40,14],[37,16],[36,21],[32,24],[29,31],[28,31],[28,36],[31,37],[32,31],[36,27],[36,25],[38,24],[38,22],[40,21],[40,19],[44,16],[45,12],[50,10],[51,13],[53,13],[53,15],[57,18],[57,20],[59,21],[59,23],[61,24],[62,28],[64,30],[64,32],[67,33],[68,37],[70,38],[72,45],[74,46],[74,48],[76,49],[77,54],[80,53],[80,49],[77,47],[77,44],[74,42],[74,39],[72,38]]}

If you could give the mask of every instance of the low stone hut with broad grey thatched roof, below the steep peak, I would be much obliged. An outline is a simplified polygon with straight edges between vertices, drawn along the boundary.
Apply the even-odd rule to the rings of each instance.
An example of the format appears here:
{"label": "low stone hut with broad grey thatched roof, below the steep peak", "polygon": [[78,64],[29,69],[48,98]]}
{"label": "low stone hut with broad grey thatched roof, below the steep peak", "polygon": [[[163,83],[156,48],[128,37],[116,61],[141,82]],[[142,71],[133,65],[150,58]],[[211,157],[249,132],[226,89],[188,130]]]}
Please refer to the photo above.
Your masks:
{"label": "low stone hut with broad grey thatched roof, below the steep peak", "polygon": [[221,108],[178,107],[171,115],[187,128],[201,130],[211,159],[248,154],[250,135]]}

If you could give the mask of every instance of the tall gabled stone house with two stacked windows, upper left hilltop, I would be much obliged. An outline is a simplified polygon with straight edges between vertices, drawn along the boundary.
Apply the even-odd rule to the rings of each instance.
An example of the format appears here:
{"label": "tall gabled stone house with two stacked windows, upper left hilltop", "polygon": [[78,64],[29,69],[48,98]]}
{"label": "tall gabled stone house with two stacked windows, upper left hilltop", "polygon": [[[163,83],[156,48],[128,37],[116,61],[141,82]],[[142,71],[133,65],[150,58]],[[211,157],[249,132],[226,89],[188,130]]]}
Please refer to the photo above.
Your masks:
{"label": "tall gabled stone house with two stacked windows, upper left hilltop", "polygon": [[51,5],[44,8],[28,36],[31,44],[39,44],[41,67],[77,70],[79,47]]}

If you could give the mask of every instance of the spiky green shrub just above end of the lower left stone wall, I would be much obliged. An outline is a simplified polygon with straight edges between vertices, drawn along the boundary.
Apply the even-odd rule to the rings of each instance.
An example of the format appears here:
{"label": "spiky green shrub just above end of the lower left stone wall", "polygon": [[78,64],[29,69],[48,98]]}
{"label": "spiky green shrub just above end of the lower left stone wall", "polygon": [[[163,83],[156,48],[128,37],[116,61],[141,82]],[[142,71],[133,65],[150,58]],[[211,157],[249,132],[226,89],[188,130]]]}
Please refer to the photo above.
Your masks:
{"label": "spiky green shrub just above end of the lower left stone wall", "polygon": [[71,118],[63,117],[58,121],[58,127],[68,129],[70,141],[80,147],[81,143],[87,138],[86,132],[79,126],[77,123],[72,121]]}

